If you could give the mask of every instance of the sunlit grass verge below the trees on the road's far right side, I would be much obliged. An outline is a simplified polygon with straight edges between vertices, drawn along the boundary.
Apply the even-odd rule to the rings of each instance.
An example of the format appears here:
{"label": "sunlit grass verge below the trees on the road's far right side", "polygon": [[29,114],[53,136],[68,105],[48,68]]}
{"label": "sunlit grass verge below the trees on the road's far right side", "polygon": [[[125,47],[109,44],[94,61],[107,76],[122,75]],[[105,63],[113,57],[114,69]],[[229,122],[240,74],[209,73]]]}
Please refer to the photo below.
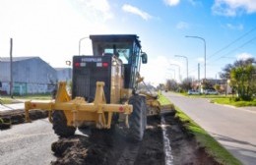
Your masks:
{"label": "sunlit grass verge below the trees on the road's far right side", "polygon": [[211,102],[218,103],[218,104],[226,104],[226,105],[232,105],[236,107],[242,107],[242,106],[256,106],[256,99],[252,101],[235,101],[234,99],[229,98],[215,98],[212,99]]}

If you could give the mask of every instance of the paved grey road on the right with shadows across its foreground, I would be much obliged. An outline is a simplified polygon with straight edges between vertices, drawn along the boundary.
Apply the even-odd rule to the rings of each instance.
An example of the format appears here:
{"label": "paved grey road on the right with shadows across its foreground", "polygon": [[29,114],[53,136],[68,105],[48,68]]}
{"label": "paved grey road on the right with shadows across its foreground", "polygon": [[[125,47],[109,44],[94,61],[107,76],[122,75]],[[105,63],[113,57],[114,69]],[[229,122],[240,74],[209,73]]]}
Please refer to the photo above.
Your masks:
{"label": "paved grey road on the right with shadows across its foreground", "polygon": [[163,94],[244,165],[256,164],[256,108],[246,110],[213,104],[207,98]]}

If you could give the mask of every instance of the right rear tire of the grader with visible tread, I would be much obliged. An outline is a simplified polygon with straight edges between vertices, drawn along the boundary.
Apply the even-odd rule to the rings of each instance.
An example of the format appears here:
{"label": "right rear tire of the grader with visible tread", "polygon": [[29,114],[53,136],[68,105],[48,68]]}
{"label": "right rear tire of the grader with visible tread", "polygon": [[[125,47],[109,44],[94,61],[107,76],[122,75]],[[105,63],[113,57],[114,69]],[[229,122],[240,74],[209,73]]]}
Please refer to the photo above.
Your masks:
{"label": "right rear tire of the grader with visible tread", "polygon": [[129,138],[140,141],[143,138],[146,128],[146,104],[140,95],[134,95],[129,99],[129,104],[133,105],[133,112],[129,117]]}

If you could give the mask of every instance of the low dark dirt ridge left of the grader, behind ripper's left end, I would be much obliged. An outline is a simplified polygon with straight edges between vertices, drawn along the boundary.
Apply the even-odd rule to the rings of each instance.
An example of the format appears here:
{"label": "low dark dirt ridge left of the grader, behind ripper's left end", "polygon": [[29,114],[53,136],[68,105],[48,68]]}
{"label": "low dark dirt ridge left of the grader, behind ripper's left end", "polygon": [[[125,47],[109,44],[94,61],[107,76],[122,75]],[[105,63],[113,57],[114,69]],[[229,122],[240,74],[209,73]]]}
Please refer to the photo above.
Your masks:
{"label": "low dark dirt ridge left of the grader, behind ripper's left end", "polygon": [[[32,110],[30,111],[30,118],[32,120],[46,118],[47,111]],[[10,129],[12,125],[25,123],[24,110],[11,110],[0,112],[0,130]]]}

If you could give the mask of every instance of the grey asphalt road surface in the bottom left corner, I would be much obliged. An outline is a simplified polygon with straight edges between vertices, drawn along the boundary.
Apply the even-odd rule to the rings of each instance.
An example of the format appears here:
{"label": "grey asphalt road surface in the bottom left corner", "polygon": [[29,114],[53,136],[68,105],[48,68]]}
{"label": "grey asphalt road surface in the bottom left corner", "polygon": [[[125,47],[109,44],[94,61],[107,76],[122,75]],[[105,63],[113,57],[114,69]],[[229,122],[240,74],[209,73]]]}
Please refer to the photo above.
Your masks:
{"label": "grey asphalt road surface in the bottom left corner", "polygon": [[47,119],[15,125],[0,131],[0,165],[45,165],[56,158],[51,152],[54,135]]}

